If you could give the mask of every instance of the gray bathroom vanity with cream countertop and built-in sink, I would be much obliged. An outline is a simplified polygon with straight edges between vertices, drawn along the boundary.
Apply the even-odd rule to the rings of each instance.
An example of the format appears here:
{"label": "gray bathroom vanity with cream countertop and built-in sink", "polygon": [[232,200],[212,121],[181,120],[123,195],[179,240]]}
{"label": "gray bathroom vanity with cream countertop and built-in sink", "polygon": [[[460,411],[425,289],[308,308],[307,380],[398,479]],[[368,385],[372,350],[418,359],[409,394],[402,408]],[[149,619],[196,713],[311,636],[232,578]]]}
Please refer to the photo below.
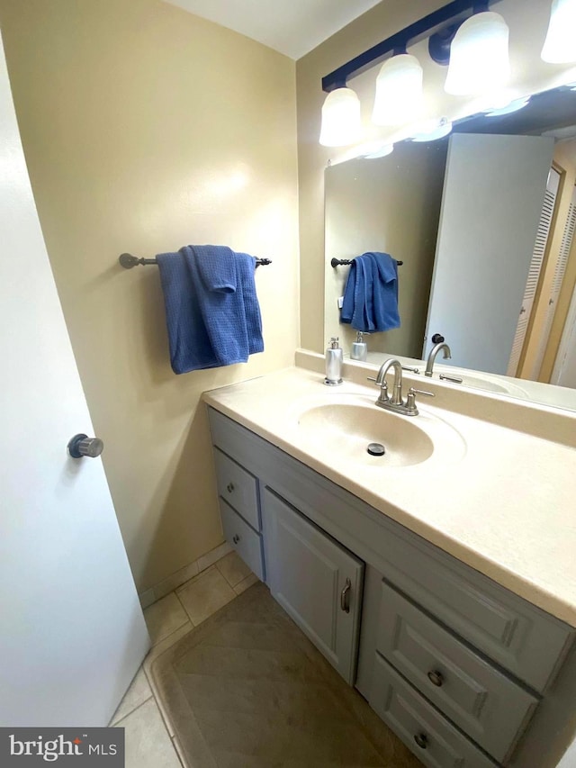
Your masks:
{"label": "gray bathroom vanity with cream countertop and built-in sink", "polygon": [[576,731],[576,532],[550,529],[576,451],[321,381],[205,393],[227,540],[422,763],[553,768]]}

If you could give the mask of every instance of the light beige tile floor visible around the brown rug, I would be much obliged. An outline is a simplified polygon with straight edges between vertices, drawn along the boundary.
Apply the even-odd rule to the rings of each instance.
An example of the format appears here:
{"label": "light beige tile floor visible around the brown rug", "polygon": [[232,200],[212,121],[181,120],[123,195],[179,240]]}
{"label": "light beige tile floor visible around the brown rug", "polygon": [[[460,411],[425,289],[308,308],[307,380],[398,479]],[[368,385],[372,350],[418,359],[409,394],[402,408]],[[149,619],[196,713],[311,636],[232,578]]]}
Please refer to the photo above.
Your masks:
{"label": "light beige tile floor visible around the brown rug", "polygon": [[144,610],[152,647],[111,722],[126,729],[125,768],[184,765],[174,731],[153,691],[150,665],[157,655],[256,582],[257,577],[236,552],[230,552]]}

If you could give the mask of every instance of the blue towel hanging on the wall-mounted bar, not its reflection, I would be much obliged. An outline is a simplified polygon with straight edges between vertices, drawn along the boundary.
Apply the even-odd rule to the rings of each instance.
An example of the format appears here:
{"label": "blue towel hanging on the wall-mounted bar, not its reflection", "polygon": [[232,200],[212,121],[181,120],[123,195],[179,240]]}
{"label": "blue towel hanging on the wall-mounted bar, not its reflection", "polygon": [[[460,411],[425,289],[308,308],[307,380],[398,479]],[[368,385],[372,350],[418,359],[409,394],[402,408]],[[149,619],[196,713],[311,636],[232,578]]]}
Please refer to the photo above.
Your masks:
{"label": "blue towel hanging on the wall-mounted bar, not its reflection", "polygon": [[246,363],[264,350],[256,258],[225,246],[157,255],[175,374]]}

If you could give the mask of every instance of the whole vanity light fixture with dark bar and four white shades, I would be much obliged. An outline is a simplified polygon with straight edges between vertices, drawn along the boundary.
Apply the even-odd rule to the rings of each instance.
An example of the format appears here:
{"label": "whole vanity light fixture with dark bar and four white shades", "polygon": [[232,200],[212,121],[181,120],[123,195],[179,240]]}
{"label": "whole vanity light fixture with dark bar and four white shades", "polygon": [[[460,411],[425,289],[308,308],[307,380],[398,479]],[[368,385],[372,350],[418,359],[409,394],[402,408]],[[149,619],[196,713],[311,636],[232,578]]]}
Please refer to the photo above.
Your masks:
{"label": "whole vanity light fixture with dark bar and four white shades", "polygon": [[[407,47],[427,38],[430,57],[438,64],[449,64],[447,93],[486,97],[484,104],[490,104],[492,114],[497,114],[497,108],[520,109],[521,100],[512,105],[501,97],[510,65],[508,24],[491,11],[491,5],[499,2],[453,0],[322,77],[322,90],[328,95],[322,107],[320,144],[343,147],[361,140],[360,102],[347,80],[377,64],[382,67],[376,80],[373,122],[410,125],[422,103],[422,68]],[[576,61],[575,28],[576,0],[552,0],[542,58],[554,63]]]}

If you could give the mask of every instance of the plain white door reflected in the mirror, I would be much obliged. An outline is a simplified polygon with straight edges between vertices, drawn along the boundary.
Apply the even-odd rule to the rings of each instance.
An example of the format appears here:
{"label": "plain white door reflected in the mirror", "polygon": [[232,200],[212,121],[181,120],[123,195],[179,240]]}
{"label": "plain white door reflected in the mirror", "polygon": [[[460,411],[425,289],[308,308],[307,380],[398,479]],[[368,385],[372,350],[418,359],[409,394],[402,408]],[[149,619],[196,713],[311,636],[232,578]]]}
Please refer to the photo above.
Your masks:
{"label": "plain white door reflected in the mirror", "polygon": [[440,333],[443,364],[506,373],[553,150],[542,136],[450,139],[425,356]]}

